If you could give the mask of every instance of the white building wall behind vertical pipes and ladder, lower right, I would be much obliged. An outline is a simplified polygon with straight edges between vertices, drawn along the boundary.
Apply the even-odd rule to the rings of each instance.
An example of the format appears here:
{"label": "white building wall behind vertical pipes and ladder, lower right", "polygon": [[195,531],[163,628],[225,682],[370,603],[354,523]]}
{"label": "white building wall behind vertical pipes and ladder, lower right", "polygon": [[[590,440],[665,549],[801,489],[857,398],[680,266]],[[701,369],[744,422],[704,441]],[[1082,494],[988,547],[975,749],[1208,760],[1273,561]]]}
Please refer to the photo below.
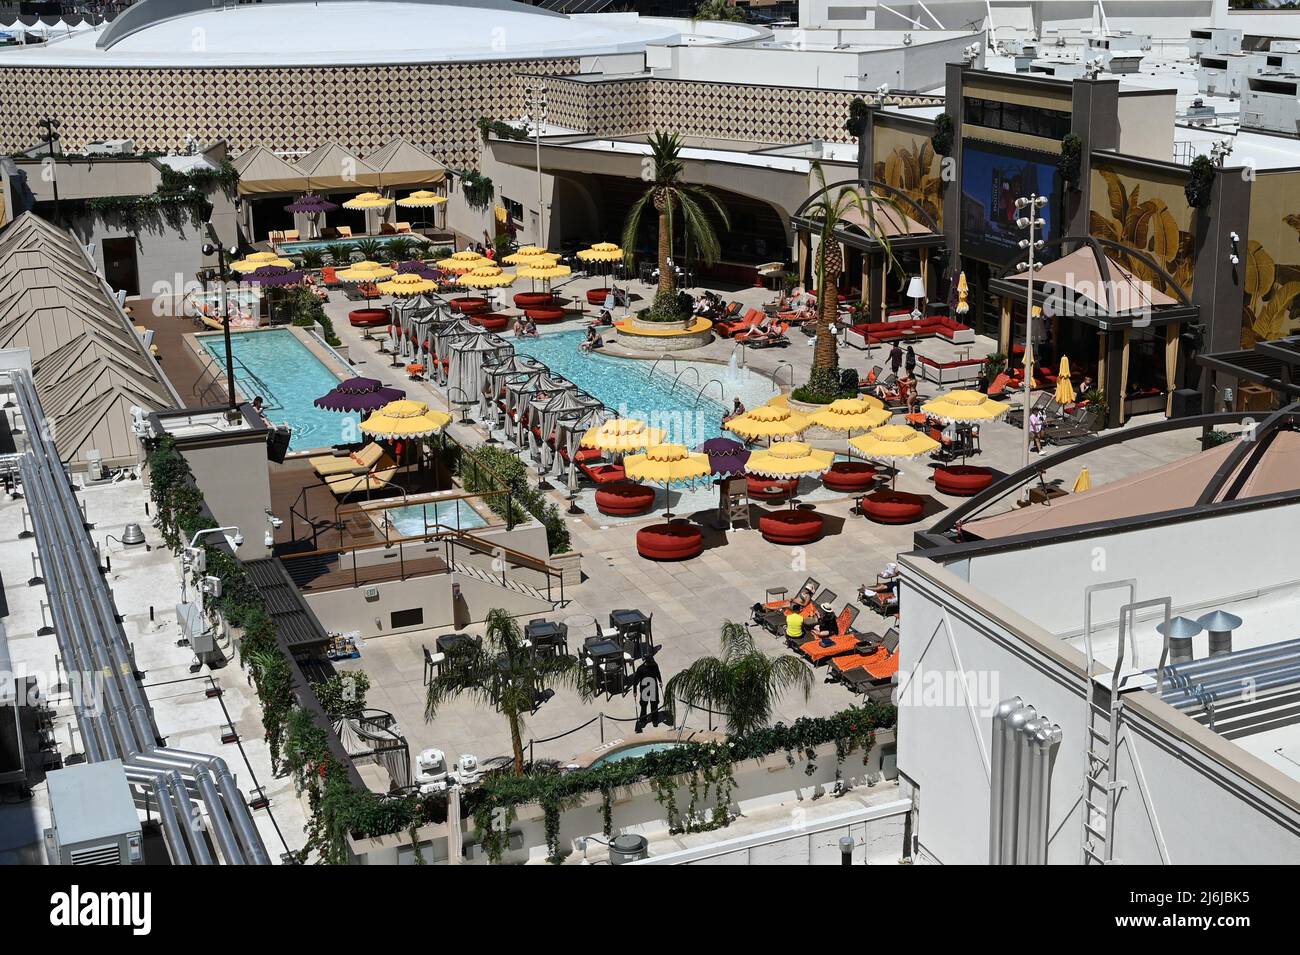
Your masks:
{"label": "white building wall behind vertical pipes and ladder, lower right", "polygon": [[[1054,577],[1070,577],[1069,565],[1052,556],[1037,560]],[[1048,861],[1079,863],[1083,655],[953,573],[922,559],[902,563],[898,770],[916,787],[922,850],[946,864],[987,863],[992,707],[1019,695],[1062,728]],[[1019,592],[1036,600],[1039,589]],[[1113,819],[1117,859],[1268,864],[1300,858],[1300,803],[1279,796],[1280,773],[1144,690],[1127,694],[1122,712],[1117,765],[1127,787]]]}

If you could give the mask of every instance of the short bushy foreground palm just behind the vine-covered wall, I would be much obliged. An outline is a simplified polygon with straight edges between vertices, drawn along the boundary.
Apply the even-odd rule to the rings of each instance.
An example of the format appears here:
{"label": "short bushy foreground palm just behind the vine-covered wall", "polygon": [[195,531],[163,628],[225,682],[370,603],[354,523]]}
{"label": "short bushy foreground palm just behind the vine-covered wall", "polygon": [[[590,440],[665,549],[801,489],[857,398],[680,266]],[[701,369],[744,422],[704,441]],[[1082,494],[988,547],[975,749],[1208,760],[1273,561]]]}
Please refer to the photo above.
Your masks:
{"label": "short bushy foreground palm just behind the vine-covered wall", "polygon": [[742,624],[723,622],[722,648],[722,656],[702,656],[668,681],[664,702],[670,711],[679,699],[708,707],[727,715],[732,735],[744,735],[771,722],[786,690],[802,691],[805,700],[812,693],[812,668],[805,660],[793,654],[768,656]]}

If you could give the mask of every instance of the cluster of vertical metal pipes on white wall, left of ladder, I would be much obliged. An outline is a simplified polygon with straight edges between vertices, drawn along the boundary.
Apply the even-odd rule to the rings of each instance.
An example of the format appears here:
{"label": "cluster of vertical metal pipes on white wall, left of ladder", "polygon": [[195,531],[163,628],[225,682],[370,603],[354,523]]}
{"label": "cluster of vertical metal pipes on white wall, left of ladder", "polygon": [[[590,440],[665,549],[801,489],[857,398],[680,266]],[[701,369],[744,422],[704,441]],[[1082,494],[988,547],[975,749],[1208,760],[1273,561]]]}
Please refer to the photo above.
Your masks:
{"label": "cluster of vertical metal pipes on white wall, left of ladder", "polygon": [[989,864],[1045,865],[1061,728],[1019,696],[993,711]]}

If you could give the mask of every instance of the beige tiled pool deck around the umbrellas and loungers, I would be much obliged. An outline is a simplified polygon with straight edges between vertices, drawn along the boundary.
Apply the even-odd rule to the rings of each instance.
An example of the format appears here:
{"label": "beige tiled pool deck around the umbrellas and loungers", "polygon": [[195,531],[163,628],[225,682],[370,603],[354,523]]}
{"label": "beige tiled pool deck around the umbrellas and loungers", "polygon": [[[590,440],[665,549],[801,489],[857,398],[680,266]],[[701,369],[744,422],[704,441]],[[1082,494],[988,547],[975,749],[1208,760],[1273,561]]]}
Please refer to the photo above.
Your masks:
{"label": "beige tiled pool deck around the umbrellas and loungers", "polygon": [[[599,285],[602,279],[594,278],[575,282],[567,288],[581,295],[586,287]],[[640,283],[633,282],[630,288],[633,294],[649,295],[649,290]],[[758,305],[767,300],[771,292],[742,288],[727,291],[724,295],[746,305]],[[387,355],[378,353],[373,342],[363,342],[360,330],[347,326],[347,308],[341,296],[335,296],[326,305],[341,337],[350,346],[351,357],[359,363],[354,373],[381,378],[386,383],[407,388],[408,394],[429,401],[430,407],[448,409],[439,391],[426,383],[407,381],[400,369],[390,369]],[[582,327],[582,320],[573,320],[566,326]],[[784,369],[793,365],[796,379],[802,381],[812,353],[812,348],[806,344],[807,340],[802,335],[796,335],[794,344],[789,348],[750,351],[746,363],[751,369],[768,376],[779,373],[783,385],[790,376],[790,372]],[[732,347],[731,342],[714,342],[690,352],[690,359],[710,360],[724,366],[731,357]],[[979,353],[982,347],[992,351],[985,340],[976,344],[975,353]],[[946,355],[945,348],[950,346],[924,342],[918,346],[918,353],[941,357]],[[616,355],[620,350],[611,346],[607,353]],[[874,364],[880,364],[884,357],[880,350],[875,350],[871,357],[853,348],[841,348],[840,355],[841,364],[863,372]],[[777,372],[779,368],[783,370]],[[931,395],[937,387],[924,385],[922,390],[923,394]],[[459,414],[456,420],[459,421]],[[484,434],[473,426],[454,424],[450,431],[467,444],[477,444],[484,439]],[[835,447],[832,443],[826,446]],[[989,425],[984,429],[983,447],[980,464],[1004,470],[1014,469],[1020,460],[1020,433],[1001,422]],[[1162,438],[1143,442],[1140,447],[1109,448],[1101,455],[1095,455],[1088,466],[1093,483],[1097,485],[1176,460],[1193,451],[1195,447],[1187,438]],[[1046,477],[1062,478],[1070,485],[1078,469],[1079,465],[1075,463],[1072,466],[1049,469]],[[928,474],[924,461],[904,463],[898,487],[931,495],[937,516],[937,512],[958,503],[958,499],[936,494],[927,481]],[[812,576],[835,590],[840,595],[840,602],[852,599],[858,586],[863,581],[875,579],[876,572],[894,555],[911,550],[911,535],[920,526],[889,528],[871,524],[849,513],[848,495],[836,495],[831,500],[810,495],[818,511],[842,522],[840,533],[801,550],[768,544],[762,541],[757,530],[733,530],[725,535],[716,533],[710,541],[718,546],[708,547],[696,560],[656,564],[642,560],[636,552],[637,528],[658,520],[656,517],[608,522],[589,505],[588,498],[592,491],[584,494],[586,496],[580,495],[578,502],[586,513],[572,517],[568,526],[575,550],[584,555],[582,570],[586,579],[566,591],[572,600],[568,607],[549,616],[564,620],[585,615],[603,621],[611,609],[620,607],[637,607],[647,613],[653,611],[655,642],[663,644],[659,664],[666,677],[703,655],[716,654],[722,621],[748,620],[749,607],[762,599],[764,587],[785,586],[793,590],[805,577]],[[551,496],[562,508],[564,507],[563,489],[558,489]],[[660,494],[660,512],[662,502]],[[712,516],[711,496],[708,507],[697,509],[696,515],[702,520]],[[722,546],[724,541],[725,546]],[[858,626],[883,630],[888,622],[863,611]],[[355,667],[370,676],[370,704],[396,715],[412,752],[429,746],[437,746],[448,755],[472,752],[480,758],[508,752],[510,738],[500,716],[472,703],[454,702],[439,713],[434,724],[425,724],[421,646],[432,643],[433,637],[433,633],[416,633],[372,639],[367,642],[359,660],[341,664],[339,669]],[[757,639],[766,652],[776,654],[784,650],[772,637],[758,635]],[[818,682],[810,700],[805,703],[800,698],[788,696],[777,706],[776,719],[790,721],[802,715],[829,715],[858,699],[842,686],[820,682],[823,670],[818,670]],[[575,694],[562,691],[529,719],[525,737],[536,739],[551,737],[588,722],[601,712],[611,717],[604,721],[603,741],[601,721],[597,721],[563,739],[540,745],[536,750],[538,756],[568,760],[576,754],[615,738],[624,737],[640,742],[632,733],[630,722],[627,722],[634,716],[634,702],[628,698],[584,704]],[[702,724],[698,717],[692,720],[692,726],[702,728]]]}

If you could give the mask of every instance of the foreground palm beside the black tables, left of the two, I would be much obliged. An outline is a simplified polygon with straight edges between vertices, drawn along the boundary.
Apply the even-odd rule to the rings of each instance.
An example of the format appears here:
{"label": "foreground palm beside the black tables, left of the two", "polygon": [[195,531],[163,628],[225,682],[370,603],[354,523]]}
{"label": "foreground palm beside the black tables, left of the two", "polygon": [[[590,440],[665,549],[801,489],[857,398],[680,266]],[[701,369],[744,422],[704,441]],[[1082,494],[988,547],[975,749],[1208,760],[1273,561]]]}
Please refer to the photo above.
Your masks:
{"label": "foreground palm beside the black tables, left of the two", "polygon": [[465,642],[447,652],[442,672],[429,683],[424,719],[432,722],[445,703],[468,696],[498,709],[510,724],[515,776],[524,774],[524,721],[554,695],[555,687],[577,690],[584,702],[592,693],[586,670],[576,656],[537,657],[507,611],[488,612],[482,642]]}

